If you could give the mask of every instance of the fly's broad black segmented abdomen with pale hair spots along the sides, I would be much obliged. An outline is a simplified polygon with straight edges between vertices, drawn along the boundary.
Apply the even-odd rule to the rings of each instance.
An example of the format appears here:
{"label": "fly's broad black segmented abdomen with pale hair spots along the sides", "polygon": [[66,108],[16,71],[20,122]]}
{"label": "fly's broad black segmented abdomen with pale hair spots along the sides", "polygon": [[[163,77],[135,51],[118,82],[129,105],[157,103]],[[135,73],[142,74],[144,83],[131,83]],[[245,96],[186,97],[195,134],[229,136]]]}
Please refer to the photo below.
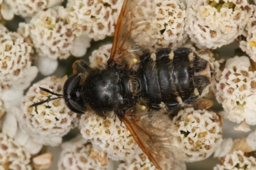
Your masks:
{"label": "fly's broad black segmented abdomen with pale hair spots along the sides", "polygon": [[169,109],[191,104],[198,100],[201,89],[210,84],[210,81],[198,84],[203,79],[211,79],[198,74],[202,70],[210,72],[211,67],[189,48],[163,48],[142,55],[140,60],[137,72],[140,95],[149,101],[151,108],[159,109],[161,103]]}

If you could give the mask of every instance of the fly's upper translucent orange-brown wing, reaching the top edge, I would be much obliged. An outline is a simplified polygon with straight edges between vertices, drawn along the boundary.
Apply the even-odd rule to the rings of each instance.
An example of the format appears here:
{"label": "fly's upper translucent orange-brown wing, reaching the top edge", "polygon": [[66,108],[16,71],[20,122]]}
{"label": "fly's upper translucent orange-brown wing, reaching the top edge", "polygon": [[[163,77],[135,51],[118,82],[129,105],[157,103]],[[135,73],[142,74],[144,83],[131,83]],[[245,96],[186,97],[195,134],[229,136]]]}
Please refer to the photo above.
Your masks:
{"label": "fly's upper translucent orange-brown wing, reaching the top edge", "polygon": [[156,28],[151,21],[156,17],[155,6],[154,0],[124,0],[108,64],[121,63],[122,60],[129,63],[154,44],[156,38],[152,32]]}

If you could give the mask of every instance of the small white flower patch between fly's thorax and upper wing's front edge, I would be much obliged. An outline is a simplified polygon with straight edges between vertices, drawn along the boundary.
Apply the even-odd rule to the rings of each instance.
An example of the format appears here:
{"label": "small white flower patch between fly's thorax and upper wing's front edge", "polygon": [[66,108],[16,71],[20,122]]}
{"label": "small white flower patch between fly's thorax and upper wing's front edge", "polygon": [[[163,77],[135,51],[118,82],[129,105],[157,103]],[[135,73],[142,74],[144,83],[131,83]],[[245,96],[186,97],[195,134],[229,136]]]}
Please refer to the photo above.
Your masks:
{"label": "small white flower patch between fly's thorax and upper wing's front edge", "polygon": [[90,67],[104,67],[110,58],[112,44],[102,45],[99,49],[94,50],[89,57]]}

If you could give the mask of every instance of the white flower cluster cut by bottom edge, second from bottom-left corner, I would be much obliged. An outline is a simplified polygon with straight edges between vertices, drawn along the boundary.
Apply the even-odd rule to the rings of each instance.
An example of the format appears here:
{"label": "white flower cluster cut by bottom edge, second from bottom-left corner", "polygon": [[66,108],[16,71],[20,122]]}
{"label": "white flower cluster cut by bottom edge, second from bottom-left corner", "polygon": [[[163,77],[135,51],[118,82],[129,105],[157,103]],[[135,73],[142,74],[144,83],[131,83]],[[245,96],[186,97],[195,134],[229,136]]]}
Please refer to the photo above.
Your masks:
{"label": "white flower cluster cut by bottom edge, second from bottom-left corner", "polygon": [[105,152],[93,148],[90,142],[80,135],[73,140],[64,142],[58,161],[59,170],[73,169],[114,169],[113,161]]}

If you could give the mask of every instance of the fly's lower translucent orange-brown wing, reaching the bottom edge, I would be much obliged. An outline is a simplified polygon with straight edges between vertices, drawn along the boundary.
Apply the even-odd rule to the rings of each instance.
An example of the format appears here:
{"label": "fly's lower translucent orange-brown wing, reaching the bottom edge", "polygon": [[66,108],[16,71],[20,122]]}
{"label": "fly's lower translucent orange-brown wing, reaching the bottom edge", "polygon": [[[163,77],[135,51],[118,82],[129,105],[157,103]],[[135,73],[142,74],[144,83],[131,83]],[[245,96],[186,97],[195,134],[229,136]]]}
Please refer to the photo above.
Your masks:
{"label": "fly's lower translucent orange-brown wing, reaching the bottom edge", "polygon": [[130,108],[122,117],[134,140],[157,169],[186,169],[171,118],[161,111]]}

